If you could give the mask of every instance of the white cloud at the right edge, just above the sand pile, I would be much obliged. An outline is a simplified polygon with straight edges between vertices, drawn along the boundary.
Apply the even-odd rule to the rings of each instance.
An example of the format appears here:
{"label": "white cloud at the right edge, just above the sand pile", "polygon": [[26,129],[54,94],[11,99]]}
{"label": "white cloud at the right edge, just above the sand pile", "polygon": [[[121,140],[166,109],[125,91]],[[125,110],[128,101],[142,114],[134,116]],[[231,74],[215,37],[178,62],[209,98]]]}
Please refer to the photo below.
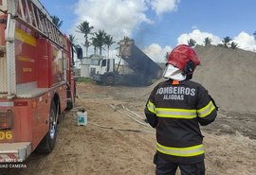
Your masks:
{"label": "white cloud at the right edge, just above the sand pile", "polygon": [[233,42],[238,44],[238,48],[254,52],[256,51],[256,41],[254,37],[247,34],[245,31],[242,31],[238,36],[234,37]]}

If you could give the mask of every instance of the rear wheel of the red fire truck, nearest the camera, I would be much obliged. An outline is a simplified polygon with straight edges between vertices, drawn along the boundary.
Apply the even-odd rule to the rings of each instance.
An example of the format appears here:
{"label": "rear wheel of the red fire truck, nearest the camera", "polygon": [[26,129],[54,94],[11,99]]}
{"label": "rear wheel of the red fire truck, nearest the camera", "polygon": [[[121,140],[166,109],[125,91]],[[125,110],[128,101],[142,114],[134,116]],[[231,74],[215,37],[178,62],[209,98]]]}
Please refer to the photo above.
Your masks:
{"label": "rear wheel of the red fire truck, nearest the camera", "polygon": [[49,115],[49,131],[46,133],[44,139],[38,145],[36,151],[40,153],[50,153],[56,143],[57,137],[57,122],[56,122],[56,105],[54,102],[51,104],[50,115]]}

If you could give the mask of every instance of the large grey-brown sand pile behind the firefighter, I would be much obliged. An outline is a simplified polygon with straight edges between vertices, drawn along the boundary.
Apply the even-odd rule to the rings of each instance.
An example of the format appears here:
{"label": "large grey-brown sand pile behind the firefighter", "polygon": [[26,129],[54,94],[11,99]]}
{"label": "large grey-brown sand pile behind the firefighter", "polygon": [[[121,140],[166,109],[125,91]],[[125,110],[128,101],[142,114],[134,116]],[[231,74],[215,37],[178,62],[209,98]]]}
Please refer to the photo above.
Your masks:
{"label": "large grey-brown sand pile behind the firefighter", "polygon": [[[220,110],[253,114],[256,112],[256,53],[221,46],[196,46],[201,66],[194,72],[194,81],[200,82],[216,100]],[[145,100],[155,84],[141,93]]]}

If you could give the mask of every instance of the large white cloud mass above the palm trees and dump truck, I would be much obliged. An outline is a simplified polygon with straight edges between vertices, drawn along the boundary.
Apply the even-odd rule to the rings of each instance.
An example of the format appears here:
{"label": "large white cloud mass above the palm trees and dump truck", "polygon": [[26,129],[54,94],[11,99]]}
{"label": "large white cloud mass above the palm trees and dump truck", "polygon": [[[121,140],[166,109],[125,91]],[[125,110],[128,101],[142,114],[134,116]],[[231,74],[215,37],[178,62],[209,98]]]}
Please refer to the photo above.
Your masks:
{"label": "large white cloud mass above the palm trees and dump truck", "polygon": [[78,38],[78,44],[84,43],[84,37],[77,31],[83,21],[94,26],[93,31],[104,29],[113,36],[114,41],[124,36],[131,37],[140,24],[154,22],[147,16],[150,9],[157,15],[177,9],[180,0],[79,0],[74,11],[78,16],[70,29]]}

